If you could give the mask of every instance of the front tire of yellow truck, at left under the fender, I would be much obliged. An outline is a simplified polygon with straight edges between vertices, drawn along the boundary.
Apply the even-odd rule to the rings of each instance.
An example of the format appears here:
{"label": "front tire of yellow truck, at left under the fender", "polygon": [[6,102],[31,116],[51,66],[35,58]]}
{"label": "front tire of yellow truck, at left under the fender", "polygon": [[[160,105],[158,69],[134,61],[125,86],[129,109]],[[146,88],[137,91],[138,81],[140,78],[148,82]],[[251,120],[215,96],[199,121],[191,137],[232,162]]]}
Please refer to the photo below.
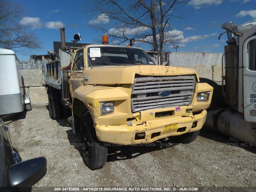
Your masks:
{"label": "front tire of yellow truck, at left under the fender", "polygon": [[80,146],[88,168],[96,170],[106,164],[108,148],[98,141],[89,112],[84,112],[80,118]]}

